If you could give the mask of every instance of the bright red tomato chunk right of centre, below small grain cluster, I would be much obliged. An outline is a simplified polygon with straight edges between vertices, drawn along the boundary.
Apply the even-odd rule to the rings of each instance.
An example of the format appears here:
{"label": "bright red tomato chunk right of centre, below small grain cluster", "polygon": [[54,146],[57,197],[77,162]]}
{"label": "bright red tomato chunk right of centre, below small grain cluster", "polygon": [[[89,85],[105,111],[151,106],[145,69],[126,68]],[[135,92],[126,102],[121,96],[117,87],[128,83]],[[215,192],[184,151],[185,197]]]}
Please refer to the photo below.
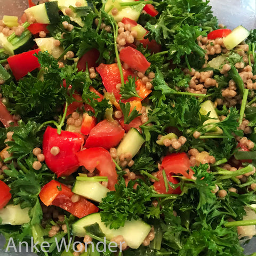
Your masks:
{"label": "bright red tomato chunk right of centre, below small grain cluster", "polygon": [[190,161],[186,153],[172,153],[165,156],[161,166],[166,175],[180,173],[184,177],[191,179],[194,174],[190,169]]}

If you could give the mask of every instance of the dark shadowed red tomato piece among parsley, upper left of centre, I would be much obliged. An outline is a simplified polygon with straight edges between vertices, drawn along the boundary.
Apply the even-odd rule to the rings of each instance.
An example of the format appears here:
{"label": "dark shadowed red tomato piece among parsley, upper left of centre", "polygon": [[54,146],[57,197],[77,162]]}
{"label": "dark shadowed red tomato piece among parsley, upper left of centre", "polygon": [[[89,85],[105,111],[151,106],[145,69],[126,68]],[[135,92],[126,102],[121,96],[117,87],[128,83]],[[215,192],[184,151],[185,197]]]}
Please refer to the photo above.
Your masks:
{"label": "dark shadowed red tomato piece among parsley, upper left of centre", "polygon": [[78,71],[86,71],[86,63],[88,68],[97,67],[97,60],[100,57],[100,52],[93,48],[87,51],[77,62]]}

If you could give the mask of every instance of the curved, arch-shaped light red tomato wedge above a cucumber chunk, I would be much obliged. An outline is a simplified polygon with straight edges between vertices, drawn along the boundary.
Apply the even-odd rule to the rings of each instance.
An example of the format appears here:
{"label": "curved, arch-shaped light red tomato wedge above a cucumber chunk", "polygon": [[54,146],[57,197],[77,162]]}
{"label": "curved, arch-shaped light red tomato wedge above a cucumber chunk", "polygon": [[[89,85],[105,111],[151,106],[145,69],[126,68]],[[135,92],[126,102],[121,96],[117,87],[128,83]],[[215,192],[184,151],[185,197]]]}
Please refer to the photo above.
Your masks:
{"label": "curved, arch-shaped light red tomato wedge above a cucumber chunk", "polygon": [[104,148],[88,148],[76,153],[79,164],[90,172],[96,168],[100,176],[108,177],[108,189],[115,190],[117,183],[116,165]]}

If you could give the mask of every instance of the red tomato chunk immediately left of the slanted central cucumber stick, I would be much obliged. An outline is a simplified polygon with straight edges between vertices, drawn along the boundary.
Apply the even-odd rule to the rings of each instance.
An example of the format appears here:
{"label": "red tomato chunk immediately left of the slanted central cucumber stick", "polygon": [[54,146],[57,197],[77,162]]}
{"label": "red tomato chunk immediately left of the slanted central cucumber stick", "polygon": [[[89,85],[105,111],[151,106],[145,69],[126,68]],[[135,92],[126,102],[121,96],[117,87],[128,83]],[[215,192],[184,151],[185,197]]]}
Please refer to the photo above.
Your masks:
{"label": "red tomato chunk immediately left of the slanted central cucumber stick", "polygon": [[108,150],[117,146],[123,136],[124,129],[121,126],[116,122],[103,120],[93,127],[88,139],[85,141],[85,147],[102,147]]}

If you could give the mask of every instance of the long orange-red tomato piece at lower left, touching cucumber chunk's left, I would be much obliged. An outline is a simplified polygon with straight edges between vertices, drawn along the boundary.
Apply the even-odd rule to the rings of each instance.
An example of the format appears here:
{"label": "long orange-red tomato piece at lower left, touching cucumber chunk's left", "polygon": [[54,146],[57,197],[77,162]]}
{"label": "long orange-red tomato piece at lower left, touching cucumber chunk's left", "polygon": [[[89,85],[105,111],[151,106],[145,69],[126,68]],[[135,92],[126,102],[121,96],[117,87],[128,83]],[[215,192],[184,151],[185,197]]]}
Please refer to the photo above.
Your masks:
{"label": "long orange-red tomato piece at lower left, touching cucumber chunk's left", "polygon": [[75,194],[70,188],[55,180],[47,183],[39,193],[41,201],[46,206],[58,206],[77,218],[83,218],[86,215],[99,211],[97,206],[87,201],[84,197],[80,197],[76,203],[73,203],[71,200],[73,195]]}

